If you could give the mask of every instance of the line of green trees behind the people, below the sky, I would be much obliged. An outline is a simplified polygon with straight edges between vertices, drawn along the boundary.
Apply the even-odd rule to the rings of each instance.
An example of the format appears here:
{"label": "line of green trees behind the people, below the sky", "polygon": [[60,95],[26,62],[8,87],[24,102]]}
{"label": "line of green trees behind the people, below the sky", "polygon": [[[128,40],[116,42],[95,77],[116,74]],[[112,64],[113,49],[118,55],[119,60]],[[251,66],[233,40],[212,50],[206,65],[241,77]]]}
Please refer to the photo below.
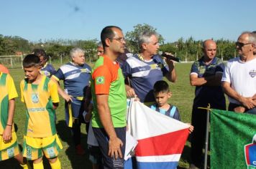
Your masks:
{"label": "line of green trees behind the people, below the sky", "polygon": [[[157,32],[157,29],[149,24],[137,24],[134,30],[125,34],[127,48],[132,53],[139,52],[137,39],[142,32],[151,30]],[[217,44],[217,57],[224,60],[237,56],[235,44],[228,39],[214,39]],[[86,51],[86,55],[90,59],[96,59],[96,47],[98,39],[88,40],[70,40],[70,39],[50,39],[42,42],[29,42],[27,39],[17,36],[4,36],[0,34],[0,56],[15,55],[17,52],[22,54],[29,54],[35,48],[45,49],[47,55],[52,59],[59,59],[60,57],[68,57],[70,49],[73,47],[81,47]],[[193,37],[183,39],[180,37],[177,42],[164,43],[165,40],[159,34],[160,51],[170,52],[176,57],[180,57],[182,61],[194,61],[202,57],[202,43],[203,40],[195,40]]]}

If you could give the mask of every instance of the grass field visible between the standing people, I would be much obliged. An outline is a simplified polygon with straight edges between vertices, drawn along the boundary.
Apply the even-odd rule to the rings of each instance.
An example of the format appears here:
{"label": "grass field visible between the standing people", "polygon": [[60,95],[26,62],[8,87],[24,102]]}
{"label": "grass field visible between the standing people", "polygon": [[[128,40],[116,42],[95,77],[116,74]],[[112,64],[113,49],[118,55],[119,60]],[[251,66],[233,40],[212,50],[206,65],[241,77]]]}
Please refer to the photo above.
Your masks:
{"label": "grass field visible between the standing people", "polygon": [[[178,74],[178,81],[175,84],[170,84],[170,90],[173,92],[173,97],[170,98],[170,103],[176,105],[180,110],[181,120],[183,122],[191,121],[191,108],[194,97],[194,87],[189,84],[189,72],[191,64],[176,64],[176,72]],[[55,68],[58,66],[55,65]],[[24,72],[22,69],[9,69],[10,74],[14,79],[14,83],[17,88],[17,92],[20,95],[19,82],[24,78]],[[62,85],[62,84],[61,84]],[[88,160],[88,152],[86,155],[78,156],[75,153],[74,146],[72,144],[72,137],[70,135],[69,128],[65,125],[65,113],[64,113],[64,101],[60,98],[60,105],[57,109],[57,130],[58,135],[63,143],[63,150],[60,152],[59,158],[62,168],[91,168],[91,163]],[[20,102],[18,97],[16,100],[16,111],[14,116],[14,122],[17,125],[17,137],[19,145],[22,145],[22,137],[24,132],[24,104]],[[86,149],[86,131],[85,125],[82,128],[82,145]],[[189,161],[189,143],[183,150],[182,159],[179,163],[179,168],[188,168]],[[49,163],[45,159],[45,168],[50,168]],[[16,160],[6,160],[0,162],[0,168],[19,168]]]}

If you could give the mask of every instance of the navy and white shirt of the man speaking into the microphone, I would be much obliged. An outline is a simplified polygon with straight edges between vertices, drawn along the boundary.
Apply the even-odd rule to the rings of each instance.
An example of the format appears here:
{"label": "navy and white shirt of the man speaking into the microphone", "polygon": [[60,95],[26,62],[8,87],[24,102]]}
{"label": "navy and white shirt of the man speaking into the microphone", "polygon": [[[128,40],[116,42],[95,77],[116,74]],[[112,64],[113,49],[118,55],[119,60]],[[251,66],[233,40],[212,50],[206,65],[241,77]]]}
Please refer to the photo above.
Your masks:
{"label": "navy and white shirt of the man speaking into the microphone", "polygon": [[129,77],[141,102],[155,102],[153,87],[155,82],[162,80],[168,74],[168,65],[155,55],[150,61],[145,61],[140,54],[129,57],[122,67],[124,77]]}

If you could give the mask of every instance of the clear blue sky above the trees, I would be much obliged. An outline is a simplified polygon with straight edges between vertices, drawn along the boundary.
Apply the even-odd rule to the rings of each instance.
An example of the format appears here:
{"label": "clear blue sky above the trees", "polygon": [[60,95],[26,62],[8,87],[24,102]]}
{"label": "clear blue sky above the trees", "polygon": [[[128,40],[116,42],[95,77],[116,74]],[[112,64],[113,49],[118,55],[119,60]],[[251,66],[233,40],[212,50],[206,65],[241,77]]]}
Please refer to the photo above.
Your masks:
{"label": "clear blue sky above the trees", "polygon": [[105,26],[124,34],[149,24],[165,43],[180,37],[235,41],[256,30],[256,0],[0,0],[0,34],[30,42],[100,39]]}

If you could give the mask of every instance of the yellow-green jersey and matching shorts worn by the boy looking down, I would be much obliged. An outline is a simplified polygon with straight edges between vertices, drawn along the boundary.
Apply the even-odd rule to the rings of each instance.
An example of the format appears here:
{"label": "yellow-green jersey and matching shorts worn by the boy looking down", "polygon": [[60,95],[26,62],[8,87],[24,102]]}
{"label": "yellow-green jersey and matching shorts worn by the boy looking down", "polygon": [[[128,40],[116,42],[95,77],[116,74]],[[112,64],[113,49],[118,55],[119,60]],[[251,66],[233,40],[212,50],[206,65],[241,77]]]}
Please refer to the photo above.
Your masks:
{"label": "yellow-green jersey and matching shorts worn by the boy looking down", "polygon": [[27,107],[23,155],[29,160],[55,158],[62,145],[56,134],[55,109],[52,103],[59,102],[58,86],[43,75],[40,84],[22,80],[21,100]]}

